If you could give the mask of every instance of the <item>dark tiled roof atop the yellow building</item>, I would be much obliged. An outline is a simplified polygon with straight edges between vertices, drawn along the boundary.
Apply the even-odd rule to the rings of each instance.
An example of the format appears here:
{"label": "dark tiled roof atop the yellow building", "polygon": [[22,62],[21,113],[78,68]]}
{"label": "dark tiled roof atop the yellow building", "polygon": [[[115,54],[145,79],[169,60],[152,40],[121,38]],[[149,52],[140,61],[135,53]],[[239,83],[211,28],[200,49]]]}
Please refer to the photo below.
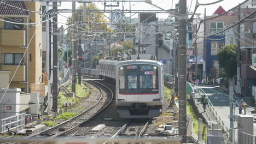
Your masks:
{"label": "dark tiled roof atop the yellow building", "polygon": [[[22,10],[22,9],[27,9],[24,1],[3,1],[3,2],[5,4],[0,3],[0,15],[11,15],[11,16],[29,15],[28,11]],[[11,7],[10,5],[13,5],[14,7]],[[15,7],[18,7],[18,8],[15,8]]]}

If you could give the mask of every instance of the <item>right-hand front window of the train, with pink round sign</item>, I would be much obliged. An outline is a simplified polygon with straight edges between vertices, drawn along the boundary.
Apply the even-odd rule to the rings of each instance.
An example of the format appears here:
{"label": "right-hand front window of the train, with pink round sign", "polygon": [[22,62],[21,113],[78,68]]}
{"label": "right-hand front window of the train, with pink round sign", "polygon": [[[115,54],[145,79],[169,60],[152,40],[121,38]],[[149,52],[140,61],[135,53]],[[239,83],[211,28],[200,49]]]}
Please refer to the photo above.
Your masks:
{"label": "right-hand front window of the train, with pink round sign", "polygon": [[158,88],[158,67],[154,65],[140,65],[139,88],[141,89]]}

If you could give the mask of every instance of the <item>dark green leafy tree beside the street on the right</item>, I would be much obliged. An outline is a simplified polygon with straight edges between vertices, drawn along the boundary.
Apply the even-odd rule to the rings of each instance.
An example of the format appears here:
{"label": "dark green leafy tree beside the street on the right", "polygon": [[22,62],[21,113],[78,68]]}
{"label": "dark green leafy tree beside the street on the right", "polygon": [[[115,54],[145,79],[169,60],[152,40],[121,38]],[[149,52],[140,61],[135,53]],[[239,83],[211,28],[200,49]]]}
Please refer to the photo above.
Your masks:
{"label": "dark green leafy tree beside the street on the right", "polygon": [[218,53],[219,67],[224,69],[228,77],[233,77],[237,73],[236,67],[236,45],[226,45]]}

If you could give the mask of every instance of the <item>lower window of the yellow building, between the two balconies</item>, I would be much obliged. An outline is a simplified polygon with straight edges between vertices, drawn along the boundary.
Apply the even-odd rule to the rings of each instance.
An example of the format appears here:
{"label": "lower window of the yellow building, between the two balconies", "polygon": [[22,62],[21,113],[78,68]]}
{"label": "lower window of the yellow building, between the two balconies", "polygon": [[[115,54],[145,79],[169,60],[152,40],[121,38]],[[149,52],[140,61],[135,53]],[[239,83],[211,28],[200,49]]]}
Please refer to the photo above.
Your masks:
{"label": "lower window of the yellow building, between the two balconies", "polygon": [[23,53],[4,53],[4,65],[24,65]]}

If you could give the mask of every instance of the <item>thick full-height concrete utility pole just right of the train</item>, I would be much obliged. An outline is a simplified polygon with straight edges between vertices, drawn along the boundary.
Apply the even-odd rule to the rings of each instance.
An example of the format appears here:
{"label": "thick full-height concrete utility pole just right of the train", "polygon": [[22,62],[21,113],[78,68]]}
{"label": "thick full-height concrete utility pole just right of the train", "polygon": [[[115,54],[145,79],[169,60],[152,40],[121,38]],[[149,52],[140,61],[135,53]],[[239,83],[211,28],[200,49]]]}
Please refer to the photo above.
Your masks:
{"label": "thick full-height concrete utility pole just right of the train", "polygon": [[186,49],[187,0],[179,0],[179,135],[187,143]]}

